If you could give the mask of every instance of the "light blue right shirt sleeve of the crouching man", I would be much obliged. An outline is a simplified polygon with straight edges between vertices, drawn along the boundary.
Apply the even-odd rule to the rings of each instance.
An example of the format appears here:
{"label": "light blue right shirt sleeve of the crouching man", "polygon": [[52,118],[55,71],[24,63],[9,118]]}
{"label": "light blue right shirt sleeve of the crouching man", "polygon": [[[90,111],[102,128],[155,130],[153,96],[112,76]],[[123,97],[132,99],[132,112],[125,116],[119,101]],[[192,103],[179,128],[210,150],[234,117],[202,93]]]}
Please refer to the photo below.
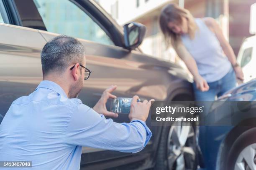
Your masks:
{"label": "light blue right shirt sleeve of the crouching man", "polygon": [[65,142],[70,145],[137,153],[146,146],[152,133],[141,120],[117,123],[79,104],[64,135]]}

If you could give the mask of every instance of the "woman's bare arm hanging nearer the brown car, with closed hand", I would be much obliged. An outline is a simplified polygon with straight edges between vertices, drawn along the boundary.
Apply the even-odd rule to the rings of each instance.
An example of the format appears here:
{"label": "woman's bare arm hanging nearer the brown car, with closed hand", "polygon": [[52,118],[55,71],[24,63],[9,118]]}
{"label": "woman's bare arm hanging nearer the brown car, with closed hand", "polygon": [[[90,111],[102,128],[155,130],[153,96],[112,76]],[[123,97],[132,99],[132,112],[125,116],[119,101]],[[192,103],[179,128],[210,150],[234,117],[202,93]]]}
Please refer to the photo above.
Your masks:
{"label": "woman's bare arm hanging nearer the brown car, with closed hand", "polygon": [[197,63],[195,59],[190,55],[187,51],[186,47],[183,44],[179,44],[178,47],[175,48],[179,57],[184,61],[185,65],[187,66],[188,70],[194,77],[194,81],[196,83],[197,89],[201,91],[208,91],[209,86],[206,80],[199,74]]}

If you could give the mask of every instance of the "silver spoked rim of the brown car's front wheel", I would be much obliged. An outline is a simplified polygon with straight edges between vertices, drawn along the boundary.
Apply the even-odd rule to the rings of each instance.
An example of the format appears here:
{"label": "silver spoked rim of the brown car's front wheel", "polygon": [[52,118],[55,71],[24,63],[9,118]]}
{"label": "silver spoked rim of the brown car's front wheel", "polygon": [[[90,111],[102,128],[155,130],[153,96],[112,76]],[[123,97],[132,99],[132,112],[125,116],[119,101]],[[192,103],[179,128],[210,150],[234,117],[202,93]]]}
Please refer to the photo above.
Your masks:
{"label": "silver spoked rim of the brown car's front wheel", "polygon": [[177,122],[169,130],[167,143],[167,163],[169,170],[189,170],[186,157],[195,160],[193,146],[186,145],[188,140],[195,138],[194,130],[189,122]]}

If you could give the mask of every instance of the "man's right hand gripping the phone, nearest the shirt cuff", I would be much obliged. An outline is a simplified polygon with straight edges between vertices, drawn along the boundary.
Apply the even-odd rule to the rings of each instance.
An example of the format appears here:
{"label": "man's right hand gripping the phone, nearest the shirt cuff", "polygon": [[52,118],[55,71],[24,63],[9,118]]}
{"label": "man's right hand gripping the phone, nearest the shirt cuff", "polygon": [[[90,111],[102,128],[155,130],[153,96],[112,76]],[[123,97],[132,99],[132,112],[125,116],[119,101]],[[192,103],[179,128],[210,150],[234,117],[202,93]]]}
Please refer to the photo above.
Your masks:
{"label": "man's right hand gripping the phone, nearest the shirt cuff", "polygon": [[143,102],[137,102],[138,96],[133,96],[133,100],[131,102],[131,110],[129,113],[129,119],[132,120],[142,120],[146,121],[148,118],[149,109],[151,106],[151,101],[155,101],[154,99],[151,100],[144,100]]}

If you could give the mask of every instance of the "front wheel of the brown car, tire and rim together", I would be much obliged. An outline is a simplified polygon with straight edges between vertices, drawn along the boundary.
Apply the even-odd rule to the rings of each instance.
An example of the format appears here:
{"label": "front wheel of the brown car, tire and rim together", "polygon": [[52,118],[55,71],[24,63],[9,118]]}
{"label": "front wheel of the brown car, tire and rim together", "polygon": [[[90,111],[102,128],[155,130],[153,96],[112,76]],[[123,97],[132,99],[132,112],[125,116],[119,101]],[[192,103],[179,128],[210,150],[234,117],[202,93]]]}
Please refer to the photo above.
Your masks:
{"label": "front wheel of the brown car, tire and rim together", "polygon": [[189,122],[163,127],[156,158],[156,170],[196,170],[195,128]]}

